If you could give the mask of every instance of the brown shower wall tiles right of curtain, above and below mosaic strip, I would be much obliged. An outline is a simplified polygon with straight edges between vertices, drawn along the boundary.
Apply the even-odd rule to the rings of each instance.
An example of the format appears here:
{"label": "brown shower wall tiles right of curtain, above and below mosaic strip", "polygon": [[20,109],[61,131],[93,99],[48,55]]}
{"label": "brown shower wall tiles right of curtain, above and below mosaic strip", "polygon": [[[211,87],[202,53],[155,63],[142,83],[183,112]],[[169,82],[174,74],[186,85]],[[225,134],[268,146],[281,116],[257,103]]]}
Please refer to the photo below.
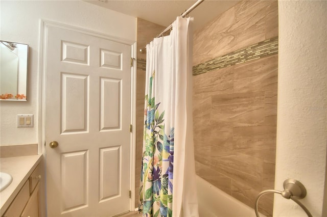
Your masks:
{"label": "brown shower wall tiles right of curtain, above and below mosaic strip", "polygon": [[[278,36],[277,1],[242,1],[194,35],[193,65]],[[278,55],[193,77],[196,172],[253,207],[274,188]],[[260,211],[272,215],[273,197]]]}

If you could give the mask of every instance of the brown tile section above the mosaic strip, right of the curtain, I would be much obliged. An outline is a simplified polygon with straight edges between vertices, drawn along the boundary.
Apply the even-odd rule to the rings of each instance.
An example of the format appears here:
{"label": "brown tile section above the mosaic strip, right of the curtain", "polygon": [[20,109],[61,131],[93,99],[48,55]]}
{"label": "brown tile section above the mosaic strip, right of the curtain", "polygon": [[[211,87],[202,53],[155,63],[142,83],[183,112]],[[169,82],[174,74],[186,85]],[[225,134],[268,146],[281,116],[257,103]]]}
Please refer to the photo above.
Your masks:
{"label": "brown tile section above the mosaic strip, right of the curtain", "polygon": [[239,2],[195,32],[193,65],[277,36],[277,14],[277,1]]}

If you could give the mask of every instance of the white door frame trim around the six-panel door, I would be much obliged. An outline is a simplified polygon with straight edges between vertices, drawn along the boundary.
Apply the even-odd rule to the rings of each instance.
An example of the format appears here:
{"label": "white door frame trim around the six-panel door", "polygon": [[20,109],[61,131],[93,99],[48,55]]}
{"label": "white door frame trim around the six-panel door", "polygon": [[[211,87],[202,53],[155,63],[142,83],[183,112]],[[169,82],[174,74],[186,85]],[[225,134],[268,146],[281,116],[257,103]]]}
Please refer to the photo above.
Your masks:
{"label": "white door frame trim around the six-panel door", "polygon": [[[94,32],[91,30],[79,28],[77,26],[72,26],[68,24],[63,24],[59,22],[53,22],[48,20],[40,20],[40,43],[39,43],[39,113],[38,113],[38,154],[43,154],[46,164],[46,138],[45,138],[45,74],[46,74],[46,50],[47,50],[47,39],[48,39],[48,28],[49,26],[55,26],[58,28],[72,30],[87,34],[90,36],[95,36],[103,39],[108,39],[114,42],[119,42],[122,44],[131,46],[131,120],[130,123],[134,126],[132,132],[130,133],[130,180],[129,189],[131,191],[131,197],[129,199],[129,210],[135,210],[135,149],[136,149],[136,41],[131,41],[123,38],[118,38],[110,35],[105,35],[102,33]],[[45,167],[46,168],[46,167]],[[46,174],[45,174],[46,179]],[[44,179],[43,179],[44,180]],[[46,182],[45,182],[46,184]],[[44,188],[46,189],[46,187]],[[45,194],[44,194],[45,195]],[[45,197],[45,196],[44,196]],[[45,207],[47,206],[46,198],[40,198],[45,201]]]}

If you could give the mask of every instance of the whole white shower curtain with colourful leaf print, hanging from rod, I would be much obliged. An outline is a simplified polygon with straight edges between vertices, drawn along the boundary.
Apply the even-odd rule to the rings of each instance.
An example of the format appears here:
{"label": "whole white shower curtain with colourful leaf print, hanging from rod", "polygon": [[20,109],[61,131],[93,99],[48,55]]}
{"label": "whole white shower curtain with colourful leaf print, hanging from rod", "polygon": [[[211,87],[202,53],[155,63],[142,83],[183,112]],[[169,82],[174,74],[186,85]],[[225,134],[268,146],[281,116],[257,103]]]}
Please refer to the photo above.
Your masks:
{"label": "whole white shower curtain with colourful leaf print, hanging from rod", "polygon": [[147,45],[145,125],[139,211],[198,216],[192,128],[191,18]]}

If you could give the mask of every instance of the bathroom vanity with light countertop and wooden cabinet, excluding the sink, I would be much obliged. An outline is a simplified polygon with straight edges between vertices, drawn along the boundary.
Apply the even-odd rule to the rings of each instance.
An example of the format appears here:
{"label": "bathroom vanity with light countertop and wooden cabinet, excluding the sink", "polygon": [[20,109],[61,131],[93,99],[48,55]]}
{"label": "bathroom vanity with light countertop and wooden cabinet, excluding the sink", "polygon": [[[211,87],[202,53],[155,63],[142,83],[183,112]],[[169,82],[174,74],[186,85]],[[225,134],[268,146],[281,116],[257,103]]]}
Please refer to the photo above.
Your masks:
{"label": "bathroom vanity with light countertop and wooden cabinet, excluding the sink", "polygon": [[13,178],[0,192],[0,216],[39,216],[41,159],[42,155],[0,158],[1,171]]}

